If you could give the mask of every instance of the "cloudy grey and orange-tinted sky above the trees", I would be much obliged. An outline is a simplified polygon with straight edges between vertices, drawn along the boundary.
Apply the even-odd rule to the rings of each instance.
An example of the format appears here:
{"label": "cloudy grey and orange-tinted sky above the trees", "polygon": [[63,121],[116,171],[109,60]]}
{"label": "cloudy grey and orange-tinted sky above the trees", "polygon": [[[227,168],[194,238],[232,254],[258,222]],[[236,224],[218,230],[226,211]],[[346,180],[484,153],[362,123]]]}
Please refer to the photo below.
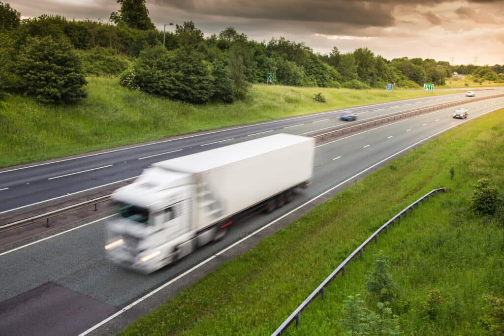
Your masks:
{"label": "cloudy grey and orange-tinted sky above the trees", "polygon": [[[3,2],[9,2],[3,1]],[[23,17],[108,21],[115,0],[15,0]],[[504,0],[147,0],[154,24],[193,20],[206,36],[232,26],[258,41],[283,36],[314,51],[368,47],[385,58],[504,63]],[[173,29],[173,27],[167,27]]]}

